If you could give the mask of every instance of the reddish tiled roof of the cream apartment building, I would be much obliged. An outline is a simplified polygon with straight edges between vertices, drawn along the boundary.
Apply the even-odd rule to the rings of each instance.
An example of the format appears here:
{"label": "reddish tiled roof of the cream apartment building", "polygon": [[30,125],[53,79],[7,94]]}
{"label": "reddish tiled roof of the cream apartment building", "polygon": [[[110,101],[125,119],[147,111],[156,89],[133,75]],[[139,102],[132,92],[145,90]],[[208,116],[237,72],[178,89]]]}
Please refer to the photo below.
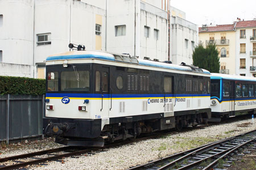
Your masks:
{"label": "reddish tiled roof of the cream apartment building", "polygon": [[234,31],[234,28],[256,27],[256,20],[245,20],[234,22],[234,24],[224,24],[208,27],[199,27],[199,33],[202,32],[217,32],[217,31]]}

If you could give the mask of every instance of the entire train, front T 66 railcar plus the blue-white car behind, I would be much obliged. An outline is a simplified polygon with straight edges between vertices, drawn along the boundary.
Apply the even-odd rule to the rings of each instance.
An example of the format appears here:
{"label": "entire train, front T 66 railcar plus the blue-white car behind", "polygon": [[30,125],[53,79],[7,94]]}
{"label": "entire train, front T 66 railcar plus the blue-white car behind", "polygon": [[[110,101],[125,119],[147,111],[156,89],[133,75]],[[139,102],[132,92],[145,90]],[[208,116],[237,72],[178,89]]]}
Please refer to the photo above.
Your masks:
{"label": "entire train, front T 66 railcar plus the blue-white car behind", "polygon": [[[207,124],[237,111],[255,112],[253,104],[228,107],[249,101],[233,97],[237,82],[243,89],[241,76],[228,79],[185,63],[77,47],[46,59],[43,134],[55,135],[56,143],[102,147],[143,133]],[[256,84],[256,78],[246,81],[247,87]],[[233,98],[227,98],[225,83]],[[253,97],[250,102],[256,103]]]}

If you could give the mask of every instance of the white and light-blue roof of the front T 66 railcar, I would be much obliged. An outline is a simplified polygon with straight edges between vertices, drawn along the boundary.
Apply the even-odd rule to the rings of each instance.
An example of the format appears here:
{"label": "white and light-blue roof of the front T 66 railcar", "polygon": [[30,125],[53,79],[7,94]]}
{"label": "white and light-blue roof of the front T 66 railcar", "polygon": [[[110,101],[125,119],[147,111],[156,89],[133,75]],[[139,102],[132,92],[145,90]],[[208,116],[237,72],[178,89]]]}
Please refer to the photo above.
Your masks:
{"label": "white and light-blue roof of the front T 66 railcar", "polygon": [[123,54],[113,54],[113,53],[106,53],[106,52],[98,52],[98,51],[71,51],[65,52],[61,54],[55,54],[52,56],[47,57],[46,61],[55,61],[55,60],[65,60],[65,59],[86,59],[86,58],[95,58],[95,59],[104,59],[108,61],[118,61],[118,62],[126,62],[126,63],[133,63],[143,66],[152,66],[152,67],[160,67],[163,69],[173,69],[173,70],[181,70],[181,71],[191,71],[203,74],[210,74],[208,70],[199,69],[198,67],[193,66],[182,66],[182,65],[175,65],[172,63],[164,63],[164,62],[157,62],[148,59],[137,59],[134,57],[129,57]]}

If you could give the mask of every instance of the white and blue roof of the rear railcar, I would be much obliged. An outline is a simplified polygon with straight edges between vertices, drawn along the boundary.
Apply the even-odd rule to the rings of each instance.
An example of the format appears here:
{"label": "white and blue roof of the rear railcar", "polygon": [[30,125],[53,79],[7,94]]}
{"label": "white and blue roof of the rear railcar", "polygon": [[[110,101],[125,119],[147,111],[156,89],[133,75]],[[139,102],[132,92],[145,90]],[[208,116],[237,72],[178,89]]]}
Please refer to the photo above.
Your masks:
{"label": "white and blue roof of the rear railcar", "polygon": [[232,74],[219,74],[219,73],[211,73],[210,79],[240,80],[240,81],[256,82],[255,77],[232,75]]}

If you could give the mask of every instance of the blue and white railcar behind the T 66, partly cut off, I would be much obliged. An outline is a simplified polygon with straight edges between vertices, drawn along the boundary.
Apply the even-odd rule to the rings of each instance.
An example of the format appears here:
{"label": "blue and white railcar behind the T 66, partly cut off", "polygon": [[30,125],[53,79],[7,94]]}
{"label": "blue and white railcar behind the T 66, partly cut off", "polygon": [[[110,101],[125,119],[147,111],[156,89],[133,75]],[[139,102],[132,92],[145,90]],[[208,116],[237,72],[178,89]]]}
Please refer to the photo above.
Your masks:
{"label": "blue and white railcar behind the T 66, partly cut off", "polygon": [[213,117],[255,113],[256,78],[212,73],[210,84],[210,108]]}

